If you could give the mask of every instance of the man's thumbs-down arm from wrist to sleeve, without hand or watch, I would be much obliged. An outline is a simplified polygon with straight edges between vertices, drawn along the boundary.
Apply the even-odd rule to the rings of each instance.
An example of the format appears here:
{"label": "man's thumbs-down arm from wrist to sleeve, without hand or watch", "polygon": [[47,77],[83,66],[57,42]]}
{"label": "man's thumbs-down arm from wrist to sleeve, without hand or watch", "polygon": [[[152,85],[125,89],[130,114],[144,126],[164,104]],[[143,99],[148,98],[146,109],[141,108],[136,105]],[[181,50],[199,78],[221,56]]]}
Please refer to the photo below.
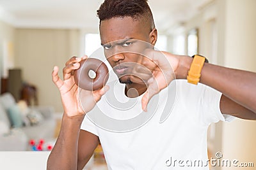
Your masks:
{"label": "man's thumbs-down arm from wrist to sleeve, without hand or watch", "polygon": [[[186,79],[193,59],[180,57],[175,71],[177,78]],[[220,91],[221,113],[235,117],[256,120],[256,73],[230,69],[205,63],[200,83]]]}

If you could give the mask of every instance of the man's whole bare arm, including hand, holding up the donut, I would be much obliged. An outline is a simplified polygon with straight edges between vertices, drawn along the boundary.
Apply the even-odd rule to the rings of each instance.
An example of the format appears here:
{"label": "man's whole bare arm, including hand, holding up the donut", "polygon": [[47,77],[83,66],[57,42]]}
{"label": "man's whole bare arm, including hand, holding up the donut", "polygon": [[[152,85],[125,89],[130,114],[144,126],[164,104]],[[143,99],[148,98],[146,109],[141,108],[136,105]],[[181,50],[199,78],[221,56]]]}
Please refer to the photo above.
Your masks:
{"label": "man's whole bare arm, including hand, holding up the donut", "polygon": [[[83,58],[72,57],[67,61],[63,69],[64,80],[58,76],[58,67],[54,67],[54,71],[52,71],[52,81],[60,90],[64,113],[60,134],[47,160],[47,169],[49,170],[83,169],[82,166],[90,159],[99,143],[97,136],[89,134],[89,132],[81,132],[80,127],[84,115],[92,110],[108,87],[93,92],[79,91],[74,83],[72,71],[80,67],[79,62],[82,59],[86,59],[86,56]],[[86,108],[81,107],[79,94],[83,94],[86,99]]]}

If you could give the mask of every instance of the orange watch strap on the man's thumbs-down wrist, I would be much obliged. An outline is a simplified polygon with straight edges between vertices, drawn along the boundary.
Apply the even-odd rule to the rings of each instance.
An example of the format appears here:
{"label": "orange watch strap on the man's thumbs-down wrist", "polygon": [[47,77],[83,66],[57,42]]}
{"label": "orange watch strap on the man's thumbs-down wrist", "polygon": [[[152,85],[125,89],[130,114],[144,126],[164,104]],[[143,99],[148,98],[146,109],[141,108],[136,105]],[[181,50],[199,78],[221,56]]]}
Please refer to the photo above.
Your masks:
{"label": "orange watch strap on the man's thumbs-down wrist", "polygon": [[188,83],[192,83],[194,85],[197,85],[197,83],[200,81],[201,71],[204,66],[205,57],[202,57],[200,55],[195,55],[192,64],[190,66],[190,69],[188,71],[187,80]]}

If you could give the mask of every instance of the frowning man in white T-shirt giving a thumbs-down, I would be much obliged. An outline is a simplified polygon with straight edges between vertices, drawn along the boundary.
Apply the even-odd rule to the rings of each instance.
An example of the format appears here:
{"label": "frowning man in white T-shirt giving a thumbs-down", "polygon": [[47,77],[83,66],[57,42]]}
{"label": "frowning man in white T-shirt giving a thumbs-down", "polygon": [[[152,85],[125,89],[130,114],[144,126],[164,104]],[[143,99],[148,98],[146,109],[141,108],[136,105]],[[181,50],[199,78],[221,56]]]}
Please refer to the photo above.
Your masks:
{"label": "frowning man in white T-shirt giving a thumbs-down", "polygon": [[[195,68],[196,60],[191,57],[167,52],[163,52],[163,57],[159,54],[161,52],[152,48],[141,52],[147,54],[148,58],[118,50],[120,46],[132,46],[134,39],[155,45],[157,30],[147,0],[106,0],[97,13],[106,58],[115,68],[120,83],[125,84],[120,91],[123,97],[139,96],[140,104],[146,111],[148,101],[158,93],[164,94],[164,90],[175,82],[177,101],[170,117],[162,124],[159,124],[159,117],[163,110],[159,107],[147,124],[134,131],[102,129],[84,115],[93,111],[97,106],[95,102],[107,106],[100,98],[109,87],[93,92],[84,91],[83,101],[86,102],[82,107],[72,73],[79,69],[79,62],[86,56],[72,57],[63,69],[64,80],[58,76],[58,67],[54,67],[52,72],[52,80],[61,93],[64,114],[60,135],[49,156],[47,169],[83,169],[99,141],[109,169],[208,169],[207,165],[188,167],[183,163],[177,166],[177,162],[170,165],[168,161],[170,157],[177,160],[207,160],[206,134],[212,122],[228,120],[232,116],[256,120],[255,73],[204,63],[204,57],[196,56],[195,59],[201,61],[197,65],[200,70]],[[154,80],[149,77],[144,80],[141,73],[122,74],[124,68],[120,66],[127,62],[147,67]],[[192,85],[186,79],[191,83],[200,83]],[[131,89],[136,89],[138,95],[132,93],[129,96]],[[104,110],[108,111],[108,108]]]}

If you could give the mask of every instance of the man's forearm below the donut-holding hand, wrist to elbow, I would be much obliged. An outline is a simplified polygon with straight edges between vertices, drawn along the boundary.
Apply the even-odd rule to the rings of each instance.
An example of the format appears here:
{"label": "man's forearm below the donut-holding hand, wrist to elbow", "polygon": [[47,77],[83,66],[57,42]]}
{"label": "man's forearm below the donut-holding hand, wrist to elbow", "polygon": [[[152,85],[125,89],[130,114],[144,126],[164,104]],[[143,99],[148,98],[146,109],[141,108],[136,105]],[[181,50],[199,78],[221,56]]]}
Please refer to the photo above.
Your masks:
{"label": "man's forearm below the donut-holding hand, wrist to elbow", "polygon": [[84,115],[67,117],[63,114],[61,130],[49,155],[47,169],[77,169],[77,146]]}

